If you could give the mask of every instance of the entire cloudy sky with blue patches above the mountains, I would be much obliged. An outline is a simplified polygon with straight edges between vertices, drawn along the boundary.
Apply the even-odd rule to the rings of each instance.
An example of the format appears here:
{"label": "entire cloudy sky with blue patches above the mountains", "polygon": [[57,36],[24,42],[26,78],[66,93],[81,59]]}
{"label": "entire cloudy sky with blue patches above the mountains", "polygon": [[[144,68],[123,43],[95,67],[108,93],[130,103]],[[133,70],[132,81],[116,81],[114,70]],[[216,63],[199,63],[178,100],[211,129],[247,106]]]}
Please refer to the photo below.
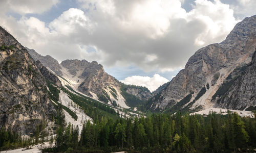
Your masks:
{"label": "entire cloudy sky with blue patches above the mountains", "polygon": [[1,0],[0,26],[41,55],[97,61],[154,91],[255,8],[255,0]]}

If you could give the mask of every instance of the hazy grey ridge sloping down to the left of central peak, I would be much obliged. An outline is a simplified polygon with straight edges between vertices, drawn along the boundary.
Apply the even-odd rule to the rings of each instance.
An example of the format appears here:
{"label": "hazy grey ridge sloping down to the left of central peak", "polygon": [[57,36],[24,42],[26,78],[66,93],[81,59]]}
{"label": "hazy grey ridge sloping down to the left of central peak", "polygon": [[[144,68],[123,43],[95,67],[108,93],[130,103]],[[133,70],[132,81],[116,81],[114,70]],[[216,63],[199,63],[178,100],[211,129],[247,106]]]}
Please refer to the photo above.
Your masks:
{"label": "hazy grey ridge sloping down to the left of central peak", "polygon": [[28,50],[29,54],[35,61],[39,60],[42,63],[42,65],[44,65],[45,67],[48,67],[57,75],[59,76],[63,75],[61,72],[61,67],[59,66],[59,63],[57,60],[55,60],[49,55],[41,56],[40,54],[36,53],[34,49],[29,49],[27,47],[26,49]]}

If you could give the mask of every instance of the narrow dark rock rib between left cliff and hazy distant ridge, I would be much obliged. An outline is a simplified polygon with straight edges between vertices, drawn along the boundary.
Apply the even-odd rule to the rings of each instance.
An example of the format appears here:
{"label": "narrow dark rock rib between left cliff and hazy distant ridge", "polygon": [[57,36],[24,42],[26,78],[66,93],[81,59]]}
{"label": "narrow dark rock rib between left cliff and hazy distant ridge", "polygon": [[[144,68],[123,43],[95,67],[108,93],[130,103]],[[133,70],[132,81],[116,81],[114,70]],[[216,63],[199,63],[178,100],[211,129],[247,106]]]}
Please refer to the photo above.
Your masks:
{"label": "narrow dark rock rib between left cliff and hazy distant ridge", "polygon": [[41,74],[48,79],[50,82],[54,83],[56,86],[61,87],[61,82],[58,77],[56,77],[53,73],[51,73],[45,66],[41,64],[40,61],[35,62],[37,68],[40,70]]}

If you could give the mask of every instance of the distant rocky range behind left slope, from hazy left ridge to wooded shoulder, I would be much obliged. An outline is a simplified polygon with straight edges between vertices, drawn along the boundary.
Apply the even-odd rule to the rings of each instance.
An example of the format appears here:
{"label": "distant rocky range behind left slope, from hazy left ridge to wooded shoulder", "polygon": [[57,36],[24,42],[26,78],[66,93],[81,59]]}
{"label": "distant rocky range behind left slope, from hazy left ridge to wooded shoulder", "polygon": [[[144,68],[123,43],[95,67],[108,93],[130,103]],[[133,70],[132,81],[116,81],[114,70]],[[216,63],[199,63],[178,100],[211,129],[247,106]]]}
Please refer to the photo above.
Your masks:
{"label": "distant rocky range behind left slope, from hazy left ridge to wooded shoulder", "polygon": [[96,61],[65,60],[60,64],[51,56],[41,56],[27,48],[35,60],[54,72],[62,84],[112,106],[137,107],[152,97],[145,87],[125,85],[104,71]]}

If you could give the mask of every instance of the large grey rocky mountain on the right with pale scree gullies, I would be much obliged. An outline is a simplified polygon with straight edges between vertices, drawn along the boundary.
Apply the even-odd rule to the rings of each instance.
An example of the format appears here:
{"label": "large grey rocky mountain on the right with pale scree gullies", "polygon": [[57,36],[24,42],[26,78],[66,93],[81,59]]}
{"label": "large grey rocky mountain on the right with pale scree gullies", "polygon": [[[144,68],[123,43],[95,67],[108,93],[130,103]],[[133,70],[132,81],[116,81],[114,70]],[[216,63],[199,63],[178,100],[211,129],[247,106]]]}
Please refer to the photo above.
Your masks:
{"label": "large grey rocky mountain on the right with pale scree gullies", "polygon": [[[158,98],[153,97],[154,100],[148,106],[153,110],[169,110],[174,113],[178,110],[197,111],[212,107],[243,110],[255,105],[255,80],[248,78],[255,72],[253,73],[253,66],[249,68],[247,65],[255,47],[256,15],[237,23],[221,43],[197,50],[189,58],[185,68],[155,95]],[[222,93],[222,97],[212,98],[229,75],[243,66],[246,66],[246,72],[241,74],[242,78],[233,81],[232,87],[227,93]],[[216,100],[220,98],[217,103]]]}

